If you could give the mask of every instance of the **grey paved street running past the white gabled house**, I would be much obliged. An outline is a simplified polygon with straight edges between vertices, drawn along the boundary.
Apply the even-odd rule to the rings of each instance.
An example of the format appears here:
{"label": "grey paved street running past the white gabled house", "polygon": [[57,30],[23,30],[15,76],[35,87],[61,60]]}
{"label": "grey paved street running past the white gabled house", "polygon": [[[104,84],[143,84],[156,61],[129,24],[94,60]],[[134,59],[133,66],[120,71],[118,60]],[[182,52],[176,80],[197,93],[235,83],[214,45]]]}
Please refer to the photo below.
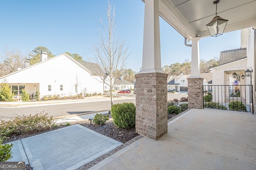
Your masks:
{"label": "grey paved street running past the white gabled house", "polygon": [[[126,100],[114,100],[114,104],[123,102],[132,102],[135,104],[134,94],[118,94],[118,96],[130,96],[130,99]],[[174,98],[180,99],[181,97],[187,97],[188,94],[184,93],[168,93],[168,100]],[[78,113],[89,113],[95,111],[110,110],[110,101],[98,101],[98,102],[86,102],[86,103],[74,103],[74,104],[60,104],[51,106],[36,106],[36,107],[20,107],[20,108],[0,108],[0,118],[9,120],[17,115],[29,115],[36,112],[48,111],[49,115],[53,117],[60,117],[66,115],[74,115]]]}

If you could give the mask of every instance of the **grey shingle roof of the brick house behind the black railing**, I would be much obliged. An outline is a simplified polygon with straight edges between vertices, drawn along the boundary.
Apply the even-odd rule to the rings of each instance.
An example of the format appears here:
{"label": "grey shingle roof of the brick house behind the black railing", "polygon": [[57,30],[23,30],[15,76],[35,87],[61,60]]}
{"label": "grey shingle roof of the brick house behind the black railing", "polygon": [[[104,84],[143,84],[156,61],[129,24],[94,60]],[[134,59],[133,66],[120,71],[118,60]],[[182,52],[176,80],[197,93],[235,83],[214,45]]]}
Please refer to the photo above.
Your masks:
{"label": "grey shingle roof of the brick house behind the black railing", "polygon": [[246,48],[220,51],[219,64],[231,63],[244,58],[246,58]]}

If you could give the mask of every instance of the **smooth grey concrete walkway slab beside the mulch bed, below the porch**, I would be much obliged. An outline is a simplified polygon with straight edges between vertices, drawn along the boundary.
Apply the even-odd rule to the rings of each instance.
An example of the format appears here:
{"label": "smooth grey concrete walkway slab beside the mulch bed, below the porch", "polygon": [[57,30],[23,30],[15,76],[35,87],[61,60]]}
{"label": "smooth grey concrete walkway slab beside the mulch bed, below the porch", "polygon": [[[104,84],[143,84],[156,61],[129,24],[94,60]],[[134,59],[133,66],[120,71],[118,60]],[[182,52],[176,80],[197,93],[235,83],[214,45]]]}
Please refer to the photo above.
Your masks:
{"label": "smooth grey concrete walkway slab beside the mulch bed, below the porch", "polygon": [[12,143],[8,161],[29,162],[34,170],[74,170],[122,145],[78,124]]}

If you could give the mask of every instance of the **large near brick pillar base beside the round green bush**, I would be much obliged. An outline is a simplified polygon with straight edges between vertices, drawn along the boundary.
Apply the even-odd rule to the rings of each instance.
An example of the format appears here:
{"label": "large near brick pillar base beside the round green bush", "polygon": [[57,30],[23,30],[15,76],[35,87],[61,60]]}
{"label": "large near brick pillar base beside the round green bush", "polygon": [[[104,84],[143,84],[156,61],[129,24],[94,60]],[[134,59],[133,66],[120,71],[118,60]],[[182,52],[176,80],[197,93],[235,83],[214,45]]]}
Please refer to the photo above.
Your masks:
{"label": "large near brick pillar base beside the round green bush", "polygon": [[167,133],[165,73],[136,74],[136,133],[158,140]]}

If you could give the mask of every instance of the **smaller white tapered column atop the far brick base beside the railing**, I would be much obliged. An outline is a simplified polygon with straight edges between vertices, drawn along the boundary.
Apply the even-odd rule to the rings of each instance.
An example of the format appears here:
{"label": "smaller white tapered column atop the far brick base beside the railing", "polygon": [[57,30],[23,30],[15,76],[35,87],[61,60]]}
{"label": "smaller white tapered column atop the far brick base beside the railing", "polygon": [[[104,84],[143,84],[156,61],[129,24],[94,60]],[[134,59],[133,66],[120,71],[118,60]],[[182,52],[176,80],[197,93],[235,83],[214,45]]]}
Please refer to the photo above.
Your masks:
{"label": "smaller white tapered column atop the far brick base beside the railing", "polygon": [[191,76],[189,78],[198,78],[200,76],[200,55],[199,55],[199,40],[200,37],[190,39],[192,41],[192,56],[191,56]]}

